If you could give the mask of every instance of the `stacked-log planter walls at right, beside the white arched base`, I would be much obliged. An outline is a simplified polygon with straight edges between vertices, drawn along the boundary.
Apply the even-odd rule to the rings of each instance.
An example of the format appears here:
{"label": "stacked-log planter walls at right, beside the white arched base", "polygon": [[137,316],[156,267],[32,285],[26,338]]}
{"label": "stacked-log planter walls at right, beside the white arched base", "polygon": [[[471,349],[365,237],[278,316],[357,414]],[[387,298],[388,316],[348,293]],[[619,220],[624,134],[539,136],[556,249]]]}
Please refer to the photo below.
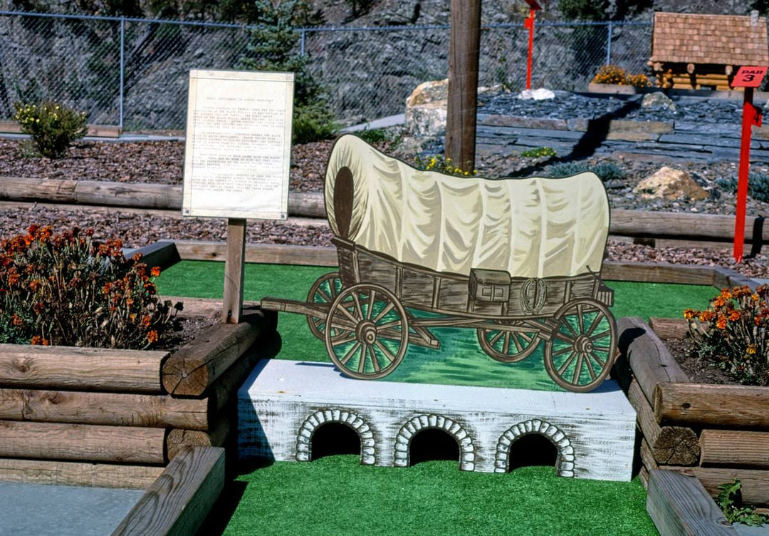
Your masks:
{"label": "stacked-log planter walls at right, beside the white arched base", "polygon": [[[684,322],[651,321],[668,336],[682,336]],[[769,387],[694,384],[643,320],[621,318],[618,331],[617,371],[643,435],[641,476],[697,477],[711,497],[736,477],[745,502],[769,505]]]}

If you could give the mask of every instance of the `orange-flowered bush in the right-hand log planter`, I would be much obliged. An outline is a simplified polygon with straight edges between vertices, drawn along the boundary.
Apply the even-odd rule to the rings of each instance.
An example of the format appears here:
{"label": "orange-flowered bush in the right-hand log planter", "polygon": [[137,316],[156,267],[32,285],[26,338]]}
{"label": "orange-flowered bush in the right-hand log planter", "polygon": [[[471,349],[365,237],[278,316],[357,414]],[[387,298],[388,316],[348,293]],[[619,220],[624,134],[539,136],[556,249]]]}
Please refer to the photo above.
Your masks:
{"label": "orange-flowered bush in the right-hand log planter", "polygon": [[724,289],[706,310],[684,310],[699,357],[745,385],[769,385],[769,287]]}

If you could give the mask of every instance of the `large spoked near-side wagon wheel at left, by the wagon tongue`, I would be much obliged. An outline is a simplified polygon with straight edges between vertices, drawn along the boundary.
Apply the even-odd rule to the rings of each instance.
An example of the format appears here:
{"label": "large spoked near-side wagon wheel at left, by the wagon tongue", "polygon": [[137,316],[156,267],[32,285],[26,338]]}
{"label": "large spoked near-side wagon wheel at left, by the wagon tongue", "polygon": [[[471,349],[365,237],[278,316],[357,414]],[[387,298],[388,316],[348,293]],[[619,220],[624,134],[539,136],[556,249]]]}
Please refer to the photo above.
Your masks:
{"label": "large spoked near-side wagon wheel at left, by the wagon tongue", "polygon": [[406,310],[393,293],[378,285],[363,283],[342,290],[331,304],[326,326],[328,357],[358,380],[387,376],[408,347]]}

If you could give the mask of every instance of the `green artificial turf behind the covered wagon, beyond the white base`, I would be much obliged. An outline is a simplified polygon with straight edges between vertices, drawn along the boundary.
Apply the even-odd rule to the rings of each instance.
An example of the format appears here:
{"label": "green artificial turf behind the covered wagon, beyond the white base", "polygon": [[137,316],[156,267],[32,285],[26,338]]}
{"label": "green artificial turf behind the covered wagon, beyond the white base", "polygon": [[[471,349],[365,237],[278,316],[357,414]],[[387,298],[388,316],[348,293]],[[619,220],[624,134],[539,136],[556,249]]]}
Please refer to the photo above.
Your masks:
{"label": "green artificial turf behind the covered wagon, beyond the white base", "polygon": [[[306,300],[312,283],[333,269],[317,266],[247,264],[245,300],[273,296]],[[709,286],[610,281],[614,288],[615,317],[681,317],[686,307],[702,309],[717,292]],[[158,278],[165,296],[220,298],[224,288],[224,263],[183,261]],[[518,363],[499,363],[478,345],[476,332],[467,328],[435,328],[441,350],[411,345],[401,364],[383,381],[480,385],[484,387],[559,390],[544,370],[544,343]],[[278,317],[281,351],[278,359],[328,362],[325,343],[316,339],[304,316],[281,313]]]}

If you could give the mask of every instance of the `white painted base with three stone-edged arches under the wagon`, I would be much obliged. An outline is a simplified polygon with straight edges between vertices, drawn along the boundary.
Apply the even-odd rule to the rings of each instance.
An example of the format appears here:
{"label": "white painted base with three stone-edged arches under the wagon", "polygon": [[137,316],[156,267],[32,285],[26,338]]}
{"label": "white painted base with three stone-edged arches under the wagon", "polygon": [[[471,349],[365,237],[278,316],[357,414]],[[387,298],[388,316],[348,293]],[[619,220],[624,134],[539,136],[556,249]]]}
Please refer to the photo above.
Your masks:
{"label": "white painted base with three stone-edged arches under the wagon", "polygon": [[351,380],[333,365],[263,360],[238,391],[241,458],[310,461],[315,430],[346,424],[361,464],[406,467],[411,438],[440,428],[464,471],[508,471],[511,444],[548,437],[564,477],[629,481],[635,411],[610,380],[591,393]]}

